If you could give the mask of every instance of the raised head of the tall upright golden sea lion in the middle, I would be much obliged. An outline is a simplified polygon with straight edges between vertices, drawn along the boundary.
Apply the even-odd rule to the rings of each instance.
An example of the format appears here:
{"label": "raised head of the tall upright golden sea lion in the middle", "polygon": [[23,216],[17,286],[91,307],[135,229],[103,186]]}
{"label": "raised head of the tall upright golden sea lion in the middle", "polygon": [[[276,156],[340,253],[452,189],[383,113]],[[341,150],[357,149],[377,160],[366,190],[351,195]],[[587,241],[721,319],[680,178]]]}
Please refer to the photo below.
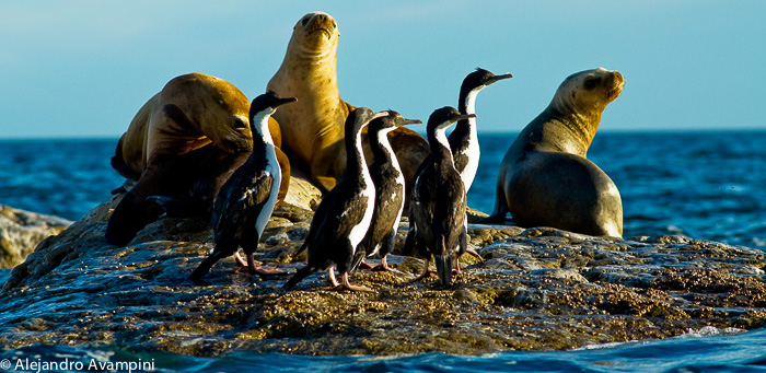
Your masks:
{"label": "raised head of the tall upright golden sea lion in the middle", "polygon": [[300,48],[304,54],[322,55],[336,50],[338,24],[332,15],[312,12],[303,15],[292,27],[291,48]]}

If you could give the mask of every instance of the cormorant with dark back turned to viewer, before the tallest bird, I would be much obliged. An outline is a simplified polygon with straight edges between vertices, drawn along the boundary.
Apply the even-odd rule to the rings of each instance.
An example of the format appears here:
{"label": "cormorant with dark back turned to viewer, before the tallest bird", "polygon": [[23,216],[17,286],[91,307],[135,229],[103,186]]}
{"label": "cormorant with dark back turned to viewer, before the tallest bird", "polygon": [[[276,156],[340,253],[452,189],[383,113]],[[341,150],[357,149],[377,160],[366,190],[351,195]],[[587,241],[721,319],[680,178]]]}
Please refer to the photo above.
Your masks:
{"label": "cormorant with dark back turned to viewer, before the tallest bird", "polygon": [[407,234],[418,253],[426,258],[422,273],[414,281],[429,275],[431,255],[442,285],[452,283],[452,260],[467,249],[465,220],[465,187],[452,161],[452,152],[445,130],[453,123],[474,117],[461,114],[454,107],[439,108],[428,118],[428,142],[431,156],[415,177],[410,200],[410,224],[417,230]]}

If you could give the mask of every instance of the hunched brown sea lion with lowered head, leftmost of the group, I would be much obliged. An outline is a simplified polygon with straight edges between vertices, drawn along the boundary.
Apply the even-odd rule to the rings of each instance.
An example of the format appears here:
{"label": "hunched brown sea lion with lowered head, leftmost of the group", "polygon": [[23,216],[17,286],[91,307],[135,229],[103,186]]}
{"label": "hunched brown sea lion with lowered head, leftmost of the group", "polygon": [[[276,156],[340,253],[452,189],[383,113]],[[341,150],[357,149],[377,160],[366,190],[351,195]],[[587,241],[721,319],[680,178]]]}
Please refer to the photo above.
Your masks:
{"label": "hunched brown sea lion with lowered head, leftmost of the group", "polygon": [[[219,188],[252,151],[248,112],[247,97],[225,80],[195,72],[167,82],[139,109],[117,143],[112,165],[136,185],[112,213],[106,241],[126,245],[156,220],[162,209],[147,200],[150,196],[172,200],[162,201],[173,206],[176,215],[210,212]],[[279,126],[269,123],[269,129],[279,142]],[[281,200],[290,163],[279,149],[277,159],[286,175]]]}

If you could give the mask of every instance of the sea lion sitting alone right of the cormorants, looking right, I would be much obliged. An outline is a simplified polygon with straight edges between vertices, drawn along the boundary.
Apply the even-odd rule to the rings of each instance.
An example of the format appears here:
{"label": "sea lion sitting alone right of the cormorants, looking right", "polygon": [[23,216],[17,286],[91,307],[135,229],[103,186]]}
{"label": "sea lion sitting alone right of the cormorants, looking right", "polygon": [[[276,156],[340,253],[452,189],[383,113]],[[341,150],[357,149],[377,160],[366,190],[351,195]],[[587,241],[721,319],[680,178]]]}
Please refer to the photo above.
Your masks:
{"label": "sea lion sitting alone right of the cormorants, looking right", "polygon": [[619,191],[585,155],[601,114],[624,84],[619,72],[603,68],[567,78],[506,152],[495,209],[485,221],[504,221],[510,212],[520,226],[622,236]]}

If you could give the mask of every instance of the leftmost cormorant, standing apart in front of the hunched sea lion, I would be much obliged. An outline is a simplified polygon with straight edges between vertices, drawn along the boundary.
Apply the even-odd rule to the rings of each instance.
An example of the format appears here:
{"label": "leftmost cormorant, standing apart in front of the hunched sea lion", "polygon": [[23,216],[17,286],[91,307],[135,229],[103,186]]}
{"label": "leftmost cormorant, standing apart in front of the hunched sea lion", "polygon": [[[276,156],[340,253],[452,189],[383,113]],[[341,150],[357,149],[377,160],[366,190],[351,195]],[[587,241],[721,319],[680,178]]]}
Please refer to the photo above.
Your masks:
{"label": "leftmost cormorant, standing apart in front of the hunched sea lion", "polygon": [[[216,197],[211,220],[214,249],[192,272],[192,280],[198,281],[218,260],[234,254],[240,264],[247,266],[249,272],[275,275],[274,271],[256,267],[253,260],[260,234],[277,203],[282,179],[268,119],[277,107],[295,101],[294,97],[280,98],[269,91],[251,103],[253,152],[223,184]],[[247,257],[246,263],[239,256],[240,246]]]}

